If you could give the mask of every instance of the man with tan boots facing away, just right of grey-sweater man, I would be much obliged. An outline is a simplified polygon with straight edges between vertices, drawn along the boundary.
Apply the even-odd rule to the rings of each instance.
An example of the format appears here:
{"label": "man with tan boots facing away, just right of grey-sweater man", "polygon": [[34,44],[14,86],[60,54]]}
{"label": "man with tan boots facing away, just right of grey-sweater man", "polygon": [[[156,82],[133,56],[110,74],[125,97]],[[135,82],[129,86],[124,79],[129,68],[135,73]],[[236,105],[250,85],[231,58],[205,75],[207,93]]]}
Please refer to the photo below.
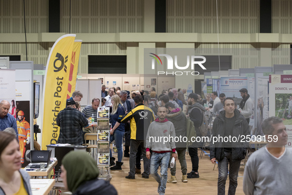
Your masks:
{"label": "man with tan boots facing away, just right of grey-sweater man", "polygon": [[[172,89],[173,90],[173,89]],[[167,102],[165,104],[168,110],[167,120],[172,122],[174,125],[175,136],[186,137],[187,136],[187,125],[186,125],[186,115],[181,111],[180,108],[176,108],[173,103]],[[186,162],[186,143],[185,142],[176,142],[175,150],[177,152],[177,157],[180,163],[180,168],[182,172],[182,182],[188,182],[187,179],[187,162]],[[170,159],[171,161],[171,159]],[[167,180],[168,183],[176,183],[176,163],[174,162],[174,167],[170,168],[171,178]]]}

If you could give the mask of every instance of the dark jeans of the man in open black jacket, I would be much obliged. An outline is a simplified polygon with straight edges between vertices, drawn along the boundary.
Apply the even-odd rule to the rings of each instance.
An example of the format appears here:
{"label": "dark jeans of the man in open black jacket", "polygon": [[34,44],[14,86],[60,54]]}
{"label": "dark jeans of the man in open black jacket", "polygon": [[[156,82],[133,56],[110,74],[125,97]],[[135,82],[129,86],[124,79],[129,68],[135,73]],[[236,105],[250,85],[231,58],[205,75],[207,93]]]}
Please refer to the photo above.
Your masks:
{"label": "dark jeans of the man in open black jacket", "polygon": [[241,160],[233,161],[232,152],[224,151],[224,158],[218,162],[218,195],[225,195],[225,183],[228,173],[229,163],[229,189],[228,195],[235,195],[237,187],[237,177]]}

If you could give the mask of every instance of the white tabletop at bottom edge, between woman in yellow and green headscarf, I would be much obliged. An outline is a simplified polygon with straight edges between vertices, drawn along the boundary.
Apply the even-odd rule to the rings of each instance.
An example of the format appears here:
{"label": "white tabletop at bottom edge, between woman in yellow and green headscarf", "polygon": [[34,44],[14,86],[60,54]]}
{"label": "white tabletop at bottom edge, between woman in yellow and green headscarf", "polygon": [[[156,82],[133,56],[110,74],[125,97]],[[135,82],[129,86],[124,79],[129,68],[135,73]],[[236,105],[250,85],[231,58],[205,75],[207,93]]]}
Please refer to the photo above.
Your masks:
{"label": "white tabletop at bottom edge, between woman in yellow and green headscarf", "polygon": [[33,195],[47,195],[55,185],[54,179],[31,179],[30,180]]}

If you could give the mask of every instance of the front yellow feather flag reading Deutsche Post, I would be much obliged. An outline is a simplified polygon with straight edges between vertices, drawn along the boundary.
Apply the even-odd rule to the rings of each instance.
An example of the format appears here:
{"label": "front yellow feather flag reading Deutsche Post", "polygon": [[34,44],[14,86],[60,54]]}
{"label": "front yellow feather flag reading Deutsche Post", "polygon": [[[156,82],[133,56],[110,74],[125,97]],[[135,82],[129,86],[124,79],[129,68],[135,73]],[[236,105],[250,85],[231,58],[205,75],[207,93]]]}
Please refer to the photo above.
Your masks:
{"label": "front yellow feather flag reading Deutsche Post", "polygon": [[66,107],[70,58],[76,35],[60,37],[53,45],[46,63],[42,95],[42,149],[56,144],[60,128],[56,124],[59,111]]}

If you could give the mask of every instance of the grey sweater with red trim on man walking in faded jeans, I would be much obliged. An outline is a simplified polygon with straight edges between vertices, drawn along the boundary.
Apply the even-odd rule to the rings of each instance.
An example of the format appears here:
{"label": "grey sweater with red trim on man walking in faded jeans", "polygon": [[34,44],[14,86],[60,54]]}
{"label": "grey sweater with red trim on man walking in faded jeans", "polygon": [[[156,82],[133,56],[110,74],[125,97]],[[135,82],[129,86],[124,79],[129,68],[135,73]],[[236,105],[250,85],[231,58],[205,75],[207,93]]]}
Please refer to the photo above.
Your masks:
{"label": "grey sweater with red trim on man walking in faded jeans", "polygon": [[[152,151],[171,151],[175,148],[175,130],[173,124],[167,119],[165,122],[158,122],[156,119],[148,128],[146,137],[146,148]],[[169,139],[170,138],[170,139]],[[173,138],[173,139],[171,139]],[[165,143],[164,143],[165,142]]]}

